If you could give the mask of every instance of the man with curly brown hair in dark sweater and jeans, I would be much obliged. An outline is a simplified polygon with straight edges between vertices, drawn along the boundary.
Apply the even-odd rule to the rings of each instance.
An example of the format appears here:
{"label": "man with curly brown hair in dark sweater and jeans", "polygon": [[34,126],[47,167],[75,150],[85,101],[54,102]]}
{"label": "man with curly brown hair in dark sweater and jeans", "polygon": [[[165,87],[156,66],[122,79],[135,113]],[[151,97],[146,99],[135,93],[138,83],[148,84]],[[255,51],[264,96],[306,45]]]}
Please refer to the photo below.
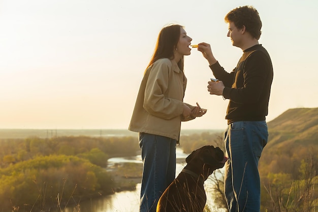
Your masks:
{"label": "man with curly brown hair in dark sweater and jeans", "polygon": [[273,80],[273,67],[266,49],[259,44],[262,22],[251,6],[230,11],[228,37],[243,55],[231,73],[214,58],[211,47],[200,43],[198,50],[208,60],[217,82],[208,82],[210,94],[229,99],[225,131],[225,196],[230,211],[260,211],[258,162],[267,144],[265,117]]}

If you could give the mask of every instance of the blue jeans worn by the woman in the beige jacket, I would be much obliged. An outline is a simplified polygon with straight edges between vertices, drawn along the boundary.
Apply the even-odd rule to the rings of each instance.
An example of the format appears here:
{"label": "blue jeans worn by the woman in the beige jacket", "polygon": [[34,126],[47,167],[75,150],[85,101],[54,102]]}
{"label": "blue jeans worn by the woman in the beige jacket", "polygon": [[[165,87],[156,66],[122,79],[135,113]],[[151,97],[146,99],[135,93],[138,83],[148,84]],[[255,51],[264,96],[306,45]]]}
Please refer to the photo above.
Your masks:
{"label": "blue jeans worn by the woman in the beige jacket", "polygon": [[176,140],[139,133],[143,161],[140,212],[156,211],[159,198],[176,177]]}

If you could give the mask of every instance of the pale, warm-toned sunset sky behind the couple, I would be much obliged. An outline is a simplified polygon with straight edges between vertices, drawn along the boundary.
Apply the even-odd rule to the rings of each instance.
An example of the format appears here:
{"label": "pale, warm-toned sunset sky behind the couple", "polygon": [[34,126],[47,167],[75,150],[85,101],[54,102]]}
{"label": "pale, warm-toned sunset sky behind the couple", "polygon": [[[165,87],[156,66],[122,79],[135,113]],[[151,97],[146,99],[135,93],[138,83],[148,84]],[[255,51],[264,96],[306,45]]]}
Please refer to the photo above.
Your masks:
{"label": "pale, warm-toned sunset sky behind the couple", "polygon": [[[318,1],[0,0],[0,128],[127,129],[161,28],[184,26],[231,72],[242,55],[225,15],[251,5],[274,79],[267,121],[318,107]],[[182,129],[225,129],[228,100],[210,95],[201,52],[185,56],[184,102],[207,113]]]}

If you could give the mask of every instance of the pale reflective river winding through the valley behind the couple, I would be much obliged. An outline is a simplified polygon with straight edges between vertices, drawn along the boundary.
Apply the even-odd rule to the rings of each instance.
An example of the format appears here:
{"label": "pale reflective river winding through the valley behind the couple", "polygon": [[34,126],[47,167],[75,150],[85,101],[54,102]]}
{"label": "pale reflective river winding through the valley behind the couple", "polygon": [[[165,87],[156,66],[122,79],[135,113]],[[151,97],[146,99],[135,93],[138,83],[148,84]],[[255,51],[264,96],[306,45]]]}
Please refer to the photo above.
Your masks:
{"label": "pale reflective river winding through the valley behind the couple", "polygon": [[[176,157],[177,161],[182,161],[188,155],[184,154],[180,148],[177,148]],[[185,166],[184,162],[176,164],[176,176]],[[110,158],[108,159],[108,164],[111,166],[113,163],[142,163],[141,156],[138,155],[134,158]],[[205,190],[207,194],[207,204],[209,205],[211,211],[223,212],[217,208],[213,202],[213,194],[209,192],[211,188],[211,183],[209,179],[205,182]],[[102,198],[92,199],[90,201],[85,201],[80,203],[81,212],[136,212],[139,211],[139,196],[140,196],[140,187],[141,184],[137,184],[135,191],[122,191],[116,192],[112,195],[105,196]],[[73,212],[78,210],[73,210],[73,207],[66,208],[65,212]]]}

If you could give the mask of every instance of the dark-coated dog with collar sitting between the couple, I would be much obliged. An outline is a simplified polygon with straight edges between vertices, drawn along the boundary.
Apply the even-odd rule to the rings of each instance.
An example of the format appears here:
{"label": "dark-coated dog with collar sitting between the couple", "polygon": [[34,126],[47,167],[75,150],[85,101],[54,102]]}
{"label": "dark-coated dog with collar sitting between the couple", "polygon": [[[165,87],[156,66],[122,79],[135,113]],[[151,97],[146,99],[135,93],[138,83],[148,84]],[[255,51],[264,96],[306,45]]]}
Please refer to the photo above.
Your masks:
{"label": "dark-coated dog with collar sitting between the couple", "polygon": [[193,151],[187,165],[160,197],[156,211],[203,211],[206,203],[204,181],[228,160],[218,147],[204,146]]}

